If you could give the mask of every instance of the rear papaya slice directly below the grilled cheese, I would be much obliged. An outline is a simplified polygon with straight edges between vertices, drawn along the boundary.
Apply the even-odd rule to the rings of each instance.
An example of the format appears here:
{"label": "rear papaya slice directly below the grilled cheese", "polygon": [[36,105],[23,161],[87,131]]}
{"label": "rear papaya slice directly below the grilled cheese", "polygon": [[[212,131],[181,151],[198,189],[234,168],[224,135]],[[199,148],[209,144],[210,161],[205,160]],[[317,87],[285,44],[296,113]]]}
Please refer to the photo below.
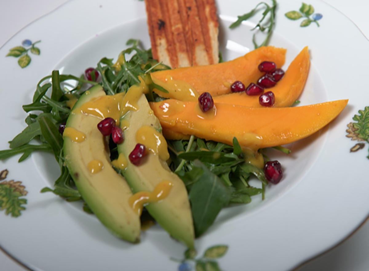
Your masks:
{"label": "rear papaya slice directly below the grilled cheese", "polygon": [[154,90],[162,97],[196,100],[203,92],[209,92],[213,97],[229,93],[231,84],[237,80],[248,86],[263,75],[258,69],[261,62],[273,61],[280,68],[284,64],[285,56],[286,49],[265,46],[231,61],[157,71],[151,73],[151,78],[154,83],[169,91],[163,93]]}

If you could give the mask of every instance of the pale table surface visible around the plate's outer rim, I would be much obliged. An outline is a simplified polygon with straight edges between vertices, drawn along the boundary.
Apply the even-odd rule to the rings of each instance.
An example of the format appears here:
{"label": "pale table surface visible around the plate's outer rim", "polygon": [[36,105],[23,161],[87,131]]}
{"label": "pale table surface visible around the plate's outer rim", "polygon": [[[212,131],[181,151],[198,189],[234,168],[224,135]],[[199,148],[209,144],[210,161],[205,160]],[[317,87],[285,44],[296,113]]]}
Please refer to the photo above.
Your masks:
{"label": "pale table surface visible around the plate's outer rim", "polygon": [[[68,0],[0,0],[0,46],[16,32],[37,18],[49,13]],[[299,3],[301,1],[298,1]],[[344,13],[369,39],[367,11],[369,1],[325,0]],[[369,44],[369,41],[368,41]],[[368,45],[369,48],[369,45]],[[349,239],[327,253],[308,262],[299,271],[367,271],[369,270],[369,222],[360,227]],[[0,271],[25,271],[27,268],[0,250]]]}

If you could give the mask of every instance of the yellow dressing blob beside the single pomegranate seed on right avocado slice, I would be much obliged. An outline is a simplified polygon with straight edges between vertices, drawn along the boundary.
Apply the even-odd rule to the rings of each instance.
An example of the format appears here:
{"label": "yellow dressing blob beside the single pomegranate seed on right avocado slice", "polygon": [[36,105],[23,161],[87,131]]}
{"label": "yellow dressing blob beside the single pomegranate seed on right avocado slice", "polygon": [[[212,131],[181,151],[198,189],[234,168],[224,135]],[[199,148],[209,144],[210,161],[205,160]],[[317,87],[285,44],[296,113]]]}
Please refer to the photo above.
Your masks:
{"label": "yellow dressing blob beside the single pomegranate seed on right avocado slice", "polygon": [[161,133],[151,126],[142,126],[136,132],[136,142],[145,145],[163,161],[169,159],[168,144]]}

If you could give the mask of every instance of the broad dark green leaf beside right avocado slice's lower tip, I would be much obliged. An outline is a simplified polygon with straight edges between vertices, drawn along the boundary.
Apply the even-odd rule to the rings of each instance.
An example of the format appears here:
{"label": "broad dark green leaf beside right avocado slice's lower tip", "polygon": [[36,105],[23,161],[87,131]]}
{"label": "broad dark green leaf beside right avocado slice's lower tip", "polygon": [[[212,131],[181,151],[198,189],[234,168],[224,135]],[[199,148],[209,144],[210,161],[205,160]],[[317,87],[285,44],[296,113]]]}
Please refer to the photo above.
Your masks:
{"label": "broad dark green leaf beside right avocado slice's lower tip", "polygon": [[203,174],[193,183],[189,193],[196,237],[213,224],[220,210],[227,206],[232,188],[227,187],[203,163],[196,160],[194,166],[203,169]]}

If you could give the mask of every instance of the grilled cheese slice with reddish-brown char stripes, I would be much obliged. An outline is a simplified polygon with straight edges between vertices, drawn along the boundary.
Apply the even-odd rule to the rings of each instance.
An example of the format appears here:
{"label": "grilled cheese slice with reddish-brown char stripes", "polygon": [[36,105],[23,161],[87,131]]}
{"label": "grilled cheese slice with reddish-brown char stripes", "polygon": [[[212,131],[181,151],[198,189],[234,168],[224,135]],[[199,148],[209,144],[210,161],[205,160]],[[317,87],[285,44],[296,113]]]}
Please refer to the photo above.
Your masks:
{"label": "grilled cheese slice with reddish-brown char stripes", "polygon": [[214,0],[145,0],[152,55],[172,68],[219,62]]}

